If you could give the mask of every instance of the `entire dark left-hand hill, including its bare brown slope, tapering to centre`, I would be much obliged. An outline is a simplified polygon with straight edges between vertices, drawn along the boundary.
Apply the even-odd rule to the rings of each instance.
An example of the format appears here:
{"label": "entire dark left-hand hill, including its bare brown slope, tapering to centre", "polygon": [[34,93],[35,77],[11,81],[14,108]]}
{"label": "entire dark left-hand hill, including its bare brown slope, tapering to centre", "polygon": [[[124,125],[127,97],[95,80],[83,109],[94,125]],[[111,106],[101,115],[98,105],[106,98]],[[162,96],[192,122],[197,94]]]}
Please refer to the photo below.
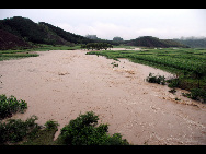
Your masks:
{"label": "entire dark left-hand hill, including its bare brown slope, tapering to centre", "polygon": [[61,45],[73,47],[78,44],[105,43],[112,40],[89,39],[81,35],[66,32],[60,27],[45,22],[35,23],[30,19],[13,16],[0,20],[0,49],[33,48],[38,44]]}

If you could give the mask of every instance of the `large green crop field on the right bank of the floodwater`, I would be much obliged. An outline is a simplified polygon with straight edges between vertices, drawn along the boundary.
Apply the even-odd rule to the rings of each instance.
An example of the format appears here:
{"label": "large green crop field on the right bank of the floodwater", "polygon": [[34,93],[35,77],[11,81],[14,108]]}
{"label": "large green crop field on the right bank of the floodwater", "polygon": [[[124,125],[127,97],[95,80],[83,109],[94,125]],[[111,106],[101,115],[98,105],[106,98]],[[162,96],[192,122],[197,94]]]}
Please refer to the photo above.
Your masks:
{"label": "large green crop field on the right bank of the floodwater", "polygon": [[178,87],[206,90],[206,49],[101,50],[88,55],[105,56],[114,60],[127,58],[176,74],[181,81]]}

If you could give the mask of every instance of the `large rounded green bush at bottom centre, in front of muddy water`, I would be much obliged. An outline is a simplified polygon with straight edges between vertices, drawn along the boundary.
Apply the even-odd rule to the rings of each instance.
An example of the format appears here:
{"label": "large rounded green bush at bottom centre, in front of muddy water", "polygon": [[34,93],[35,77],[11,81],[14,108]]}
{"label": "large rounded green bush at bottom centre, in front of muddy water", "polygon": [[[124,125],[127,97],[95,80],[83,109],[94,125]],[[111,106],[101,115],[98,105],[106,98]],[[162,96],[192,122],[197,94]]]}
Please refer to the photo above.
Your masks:
{"label": "large rounded green bush at bottom centre, in front of muddy water", "polygon": [[93,111],[80,115],[65,126],[58,137],[58,143],[67,145],[128,145],[119,133],[110,137],[108,125],[98,125],[98,116]]}

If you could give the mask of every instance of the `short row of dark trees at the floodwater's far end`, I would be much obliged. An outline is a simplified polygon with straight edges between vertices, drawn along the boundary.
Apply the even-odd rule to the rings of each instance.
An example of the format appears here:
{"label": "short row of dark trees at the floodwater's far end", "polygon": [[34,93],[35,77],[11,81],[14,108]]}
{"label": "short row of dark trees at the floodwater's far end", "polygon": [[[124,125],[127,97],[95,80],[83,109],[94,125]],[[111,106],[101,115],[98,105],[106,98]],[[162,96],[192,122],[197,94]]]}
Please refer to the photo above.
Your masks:
{"label": "short row of dark trees at the floodwater's far end", "polygon": [[107,48],[113,48],[113,46],[108,43],[88,43],[84,45],[81,45],[81,48],[83,49],[95,49],[95,50],[101,50],[101,49],[105,49],[107,50]]}

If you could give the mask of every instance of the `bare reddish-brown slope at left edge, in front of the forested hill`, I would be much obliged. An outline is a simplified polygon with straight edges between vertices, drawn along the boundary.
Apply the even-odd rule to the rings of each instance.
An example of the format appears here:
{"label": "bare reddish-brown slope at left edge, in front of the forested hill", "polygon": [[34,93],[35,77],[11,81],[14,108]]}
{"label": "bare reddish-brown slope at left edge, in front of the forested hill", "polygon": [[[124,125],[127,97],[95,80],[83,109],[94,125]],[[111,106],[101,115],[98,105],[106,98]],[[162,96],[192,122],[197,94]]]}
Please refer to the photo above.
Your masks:
{"label": "bare reddish-brown slope at left edge, in front of the forested hill", "polygon": [[22,38],[7,31],[0,29],[0,50],[14,49],[18,47],[30,48],[32,46]]}

